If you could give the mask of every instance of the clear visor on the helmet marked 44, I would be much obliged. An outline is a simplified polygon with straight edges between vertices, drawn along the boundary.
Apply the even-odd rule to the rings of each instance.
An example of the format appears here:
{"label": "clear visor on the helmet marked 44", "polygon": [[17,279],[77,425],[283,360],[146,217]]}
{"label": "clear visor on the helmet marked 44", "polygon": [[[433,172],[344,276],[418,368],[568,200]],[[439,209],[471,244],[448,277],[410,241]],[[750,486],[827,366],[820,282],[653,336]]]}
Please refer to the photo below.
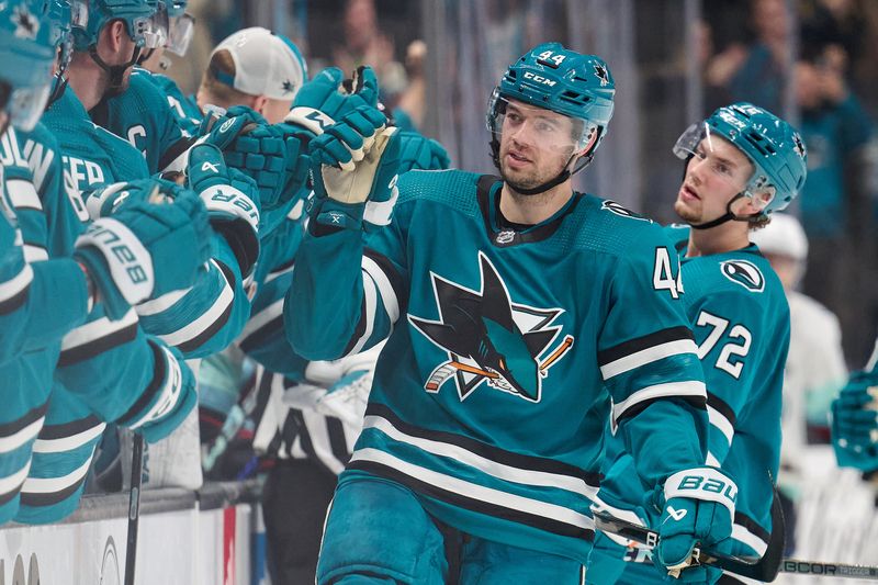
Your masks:
{"label": "clear visor on the helmet marked 44", "polygon": [[497,90],[494,90],[488,104],[487,127],[498,142],[507,133],[520,142],[571,156],[588,150],[599,134],[593,122],[510,101],[499,95]]}

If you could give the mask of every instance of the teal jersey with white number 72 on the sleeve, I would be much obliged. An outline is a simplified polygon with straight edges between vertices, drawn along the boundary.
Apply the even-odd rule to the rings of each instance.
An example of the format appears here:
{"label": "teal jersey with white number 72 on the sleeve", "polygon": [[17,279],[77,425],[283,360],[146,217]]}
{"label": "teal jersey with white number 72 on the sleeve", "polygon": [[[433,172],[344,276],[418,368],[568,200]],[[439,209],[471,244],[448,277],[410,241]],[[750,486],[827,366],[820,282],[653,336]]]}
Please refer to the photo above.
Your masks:
{"label": "teal jersey with white number 72 on the sleeve", "polygon": [[[706,463],[721,466],[738,484],[734,552],[763,554],[772,531],[780,458],[781,386],[789,348],[786,295],[755,245],[688,258],[689,228],[672,226],[666,233],[680,255],[683,300],[707,384]],[[607,435],[601,502],[618,516],[634,511],[654,522],[661,513],[642,507],[648,486],[632,473],[623,438],[611,429]]]}

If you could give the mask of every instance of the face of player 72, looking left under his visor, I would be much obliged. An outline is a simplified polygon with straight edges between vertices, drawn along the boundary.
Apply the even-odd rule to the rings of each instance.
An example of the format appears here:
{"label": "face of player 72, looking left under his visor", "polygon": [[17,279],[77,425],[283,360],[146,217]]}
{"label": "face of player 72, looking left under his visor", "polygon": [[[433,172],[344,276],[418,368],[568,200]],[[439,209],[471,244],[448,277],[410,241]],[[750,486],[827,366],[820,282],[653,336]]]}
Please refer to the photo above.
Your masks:
{"label": "face of player 72, looking left under his visor", "polygon": [[[696,225],[721,217],[752,173],[753,165],[734,145],[719,136],[706,138],[686,164],[674,211],[683,221]],[[743,198],[738,201],[745,203]],[[734,204],[732,212],[735,213]]]}

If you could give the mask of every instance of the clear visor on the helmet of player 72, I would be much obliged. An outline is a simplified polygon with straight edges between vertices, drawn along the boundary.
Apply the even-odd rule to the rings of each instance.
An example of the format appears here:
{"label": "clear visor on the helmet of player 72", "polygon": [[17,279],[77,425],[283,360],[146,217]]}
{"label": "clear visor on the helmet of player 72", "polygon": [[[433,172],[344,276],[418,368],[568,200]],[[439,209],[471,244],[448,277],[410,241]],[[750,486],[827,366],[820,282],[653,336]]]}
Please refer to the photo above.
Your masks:
{"label": "clear visor on the helmet of player 72", "polygon": [[[699,172],[709,173],[716,181],[729,185],[736,193],[750,198],[751,203],[763,211],[775,198],[776,190],[768,184],[763,170],[747,158],[742,164],[743,153],[725,137],[711,131],[707,122],[693,124],[677,138],[674,155],[689,160],[687,173],[697,166]],[[745,155],[744,155],[745,156]]]}

